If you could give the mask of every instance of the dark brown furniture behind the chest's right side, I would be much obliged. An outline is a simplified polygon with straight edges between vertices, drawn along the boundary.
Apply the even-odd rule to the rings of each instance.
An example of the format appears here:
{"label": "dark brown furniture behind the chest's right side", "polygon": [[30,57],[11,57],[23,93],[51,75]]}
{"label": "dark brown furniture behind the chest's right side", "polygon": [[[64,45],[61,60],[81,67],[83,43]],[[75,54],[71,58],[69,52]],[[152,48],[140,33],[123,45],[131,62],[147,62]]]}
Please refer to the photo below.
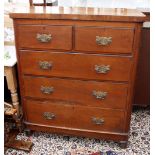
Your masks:
{"label": "dark brown furniture behind the chest's right side", "polygon": [[[150,13],[146,21],[150,21]],[[150,28],[143,27],[141,47],[139,52],[138,69],[136,73],[134,105],[147,107],[150,105]]]}

